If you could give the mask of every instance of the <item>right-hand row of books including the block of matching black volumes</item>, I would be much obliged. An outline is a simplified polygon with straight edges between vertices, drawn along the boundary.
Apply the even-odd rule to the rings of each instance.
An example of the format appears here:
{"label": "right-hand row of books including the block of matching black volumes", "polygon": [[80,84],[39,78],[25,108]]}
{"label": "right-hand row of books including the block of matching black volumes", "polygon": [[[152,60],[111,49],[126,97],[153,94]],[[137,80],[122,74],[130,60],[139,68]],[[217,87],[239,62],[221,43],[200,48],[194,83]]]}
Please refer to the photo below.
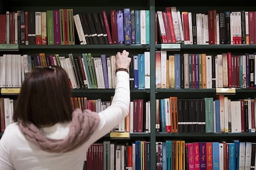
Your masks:
{"label": "right-hand row of books including the block of matching black volumes", "polygon": [[255,99],[156,99],[156,131],[185,133],[255,132]]}

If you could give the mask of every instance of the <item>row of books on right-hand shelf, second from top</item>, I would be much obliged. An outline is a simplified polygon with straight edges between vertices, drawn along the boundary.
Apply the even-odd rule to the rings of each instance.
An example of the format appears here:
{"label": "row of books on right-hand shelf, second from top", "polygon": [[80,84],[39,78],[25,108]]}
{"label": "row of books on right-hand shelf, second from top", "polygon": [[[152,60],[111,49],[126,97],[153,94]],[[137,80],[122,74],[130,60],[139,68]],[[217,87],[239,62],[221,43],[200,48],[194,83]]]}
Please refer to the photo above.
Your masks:
{"label": "row of books on right-hand shelf, second from top", "polygon": [[254,89],[255,54],[171,54],[156,51],[156,88]]}

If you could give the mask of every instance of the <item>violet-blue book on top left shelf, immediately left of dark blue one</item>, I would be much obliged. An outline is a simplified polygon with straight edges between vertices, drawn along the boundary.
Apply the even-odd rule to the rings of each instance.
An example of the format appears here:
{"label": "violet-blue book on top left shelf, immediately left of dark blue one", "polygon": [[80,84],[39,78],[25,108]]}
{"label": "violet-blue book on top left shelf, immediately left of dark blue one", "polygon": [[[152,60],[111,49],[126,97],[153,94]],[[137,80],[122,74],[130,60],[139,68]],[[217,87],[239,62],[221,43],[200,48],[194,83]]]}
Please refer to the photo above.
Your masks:
{"label": "violet-blue book on top left shelf, immediately left of dark blue one", "polygon": [[124,11],[123,10],[117,10],[116,23],[117,23],[118,44],[124,44]]}

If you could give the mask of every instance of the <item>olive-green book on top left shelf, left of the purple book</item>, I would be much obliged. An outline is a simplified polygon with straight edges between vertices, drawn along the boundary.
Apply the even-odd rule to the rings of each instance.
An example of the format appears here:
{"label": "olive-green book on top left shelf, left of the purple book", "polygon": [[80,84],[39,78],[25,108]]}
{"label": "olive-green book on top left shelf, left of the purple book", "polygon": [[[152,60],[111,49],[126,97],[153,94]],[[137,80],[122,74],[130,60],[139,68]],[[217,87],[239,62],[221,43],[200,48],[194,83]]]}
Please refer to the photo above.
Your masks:
{"label": "olive-green book on top left shelf, left of the purple book", "polygon": [[54,45],[54,20],[53,20],[53,10],[46,10],[47,16],[47,44]]}

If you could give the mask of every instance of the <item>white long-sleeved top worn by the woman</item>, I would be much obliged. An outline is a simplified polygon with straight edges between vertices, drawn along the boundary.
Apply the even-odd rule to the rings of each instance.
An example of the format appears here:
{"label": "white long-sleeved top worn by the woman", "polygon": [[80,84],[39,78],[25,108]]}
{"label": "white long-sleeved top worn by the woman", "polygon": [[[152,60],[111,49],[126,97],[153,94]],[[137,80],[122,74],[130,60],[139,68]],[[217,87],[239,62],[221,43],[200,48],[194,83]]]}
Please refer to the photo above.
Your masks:
{"label": "white long-sleeved top worn by the woman", "polygon": [[[101,111],[98,128],[87,142],[67,153],[49,153],[28,142],[20,132],[17,123],[6,127],[0,140],[1,170],[79,170],[88,148],[96,140],[105,136],[129,113],[130,87],[129,75],[125,71],[116,73],[116,90],[111,106]],[[69,123],[57,123],[41,128],[45,136],[51,139],[64,139],[69,132]]]}

